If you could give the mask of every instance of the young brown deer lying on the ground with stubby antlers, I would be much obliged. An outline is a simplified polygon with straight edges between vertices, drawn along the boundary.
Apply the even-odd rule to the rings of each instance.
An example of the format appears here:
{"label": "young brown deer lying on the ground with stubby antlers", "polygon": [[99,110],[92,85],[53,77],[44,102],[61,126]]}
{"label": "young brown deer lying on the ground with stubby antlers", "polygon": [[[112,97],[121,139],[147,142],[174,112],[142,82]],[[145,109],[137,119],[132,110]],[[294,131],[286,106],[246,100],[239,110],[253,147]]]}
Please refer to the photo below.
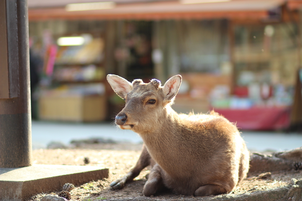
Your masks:
{"label": "young brown deer lying on the ground with stubby antlers", "polygon": [[182,195],[218,195],[234,190],[246,177],[249,152],[236,126],[213,111],[185,115],[171,108],[182,82],[180,75],[163,87],[156,79],[130,83],[107,75],[107,80],[126,101],[115,123],[121,129],[133,130],[144,142],[137,164],[111,187],[124,187],[148,165],[152,169],[143,188],[145,196],[164,187]]}

